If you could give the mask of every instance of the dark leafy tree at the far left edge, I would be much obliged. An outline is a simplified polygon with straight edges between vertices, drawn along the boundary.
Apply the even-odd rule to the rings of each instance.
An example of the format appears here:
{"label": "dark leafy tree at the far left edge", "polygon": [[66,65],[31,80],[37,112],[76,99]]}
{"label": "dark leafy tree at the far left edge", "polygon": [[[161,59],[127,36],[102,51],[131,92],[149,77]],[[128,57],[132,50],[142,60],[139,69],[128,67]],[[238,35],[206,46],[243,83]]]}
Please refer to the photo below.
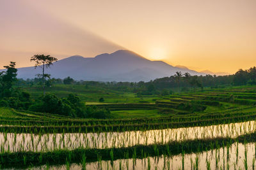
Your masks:
{"label": "dark leafy tree at the far left edge", "polygon": [[13,83],[17,80],[16,63],[10,62],[9,66],[4,66],[6,71],[0,73],[1,96],[10,97]]}

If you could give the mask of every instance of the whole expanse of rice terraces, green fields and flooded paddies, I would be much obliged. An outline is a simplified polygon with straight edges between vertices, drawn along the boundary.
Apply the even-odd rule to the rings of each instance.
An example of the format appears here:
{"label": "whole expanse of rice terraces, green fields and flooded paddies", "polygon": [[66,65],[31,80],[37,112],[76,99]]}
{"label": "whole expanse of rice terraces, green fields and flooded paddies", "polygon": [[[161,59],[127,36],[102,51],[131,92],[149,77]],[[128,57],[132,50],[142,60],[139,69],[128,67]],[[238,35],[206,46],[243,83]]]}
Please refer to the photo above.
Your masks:
{"label": "whole expanse of rice terraces, green fields and flooded paddies", "polygon": [[255,169],[256,87],[166,96],[79,87],[52,90],[61,97],[72,88],[109,118],[1,107],[1,168]]}

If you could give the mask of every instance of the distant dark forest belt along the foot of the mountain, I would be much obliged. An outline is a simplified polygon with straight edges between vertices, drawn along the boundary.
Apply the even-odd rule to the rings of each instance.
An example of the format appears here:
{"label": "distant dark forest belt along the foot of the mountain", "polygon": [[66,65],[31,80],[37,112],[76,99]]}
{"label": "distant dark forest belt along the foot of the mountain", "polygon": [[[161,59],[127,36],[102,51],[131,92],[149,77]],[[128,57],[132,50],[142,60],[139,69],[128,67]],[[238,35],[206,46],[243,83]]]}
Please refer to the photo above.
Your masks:
{"label": "distant dark forest belt along the foot of the mountain", "polygon": [[[157,78],[156,80],[144,82],[100,82],[100,81],[76,81],[69,76],[63,80],[60,78],[47,78],[45,85],[47,87],[56,84],[76,84],[85,86],[107,87],[113,90],[124,92],[136,92],[148,94],[152,92],[161,92],[165,90],[179,88],[180,92],[189,90],[203,89],[204,87],[221,88],[228,85],[256,85],[256,67],[250,69],[239,69],[235,74],[227,76],[191,76],[189,73],[181,74],[177,72],[174,76]],[[33,86],[42,85],[42,78],[34,78],[28,80],[19,79],[15,83],[16,86]]]}

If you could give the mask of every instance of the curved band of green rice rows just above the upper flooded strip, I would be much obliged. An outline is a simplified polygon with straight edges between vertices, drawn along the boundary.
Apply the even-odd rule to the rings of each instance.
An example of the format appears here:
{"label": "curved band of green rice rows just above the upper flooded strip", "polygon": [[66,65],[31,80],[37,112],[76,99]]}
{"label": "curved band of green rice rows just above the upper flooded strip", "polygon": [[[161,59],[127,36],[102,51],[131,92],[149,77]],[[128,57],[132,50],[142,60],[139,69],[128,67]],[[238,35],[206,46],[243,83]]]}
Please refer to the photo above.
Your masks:
{"label": "curved band of green rice rows just above the upper flooded strip", "polygon": [[[229,124],[255,120],[256,107],[236,108],[212,113],[191,113],[175,117],[127,118],[127,119],[77,119],[58,117],[42,113],[15,111],[1,108],[6,115],[1,117],[0,132],[16,133],[60,133],[60,132],[109,132],[109,131],[145,131],[148,129],[168,129],[195,127],[216,124]],[[41,115],[42,114],[42,115]],[[11,116],[12,115],[12,116]],[[19,121],[17,121],[19,120]]]}

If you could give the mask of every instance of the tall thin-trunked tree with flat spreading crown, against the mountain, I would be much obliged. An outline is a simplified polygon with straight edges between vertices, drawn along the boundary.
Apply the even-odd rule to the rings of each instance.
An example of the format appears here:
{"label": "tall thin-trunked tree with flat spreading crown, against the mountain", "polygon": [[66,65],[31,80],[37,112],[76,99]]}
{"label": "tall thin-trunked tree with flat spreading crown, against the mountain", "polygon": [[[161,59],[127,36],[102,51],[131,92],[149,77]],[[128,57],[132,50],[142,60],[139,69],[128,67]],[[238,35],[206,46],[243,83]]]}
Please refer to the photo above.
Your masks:
{"label": "tall thin-trunked tree with flat spreading crown, against the mountain", "polygon": [[44,95],[45,95],[45,68],[48,68],[52,65],[52,62],[57,61],[58,59],[51,57],[51,55],[44,55],[44,54],[36,54],[31,57],[30,61],[35,61],[35,68],[40,66],[43,69],[42,80],[43,80],[43,87],[44,87]]}

